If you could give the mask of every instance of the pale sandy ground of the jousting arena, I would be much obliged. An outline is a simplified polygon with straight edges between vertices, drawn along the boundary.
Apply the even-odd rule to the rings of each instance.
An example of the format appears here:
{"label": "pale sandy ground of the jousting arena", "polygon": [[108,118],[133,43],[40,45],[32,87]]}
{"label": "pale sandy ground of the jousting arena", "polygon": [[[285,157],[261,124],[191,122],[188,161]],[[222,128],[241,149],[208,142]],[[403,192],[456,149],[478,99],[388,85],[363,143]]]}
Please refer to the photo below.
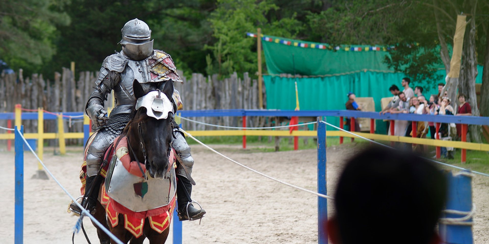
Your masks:
{"label": "pale sandy ground of the jousting arena", "polygon": [[[317,191],[316,150],[257,152],[239,145],[214,145],[226,156],[272,177]],[[346,158],[358,148],[352,144],[329,147],[328,192],[333,195],[337,176]],[[74,197],[80,195],[78,180],[82,148],[68,148],[67,155],[46,149],[44,162]],[[192,147],[197,182],[192,197],[206,209],[198,221],[183,223],[185,244],[316,244],[317,197],[248,171],[200,145]],[[0,243],[14,243],[14,153],[0,152]],[[24,236],[26,244],[71,243],[77,218],[66,212],[67,195],[52,180],[31,179],[37,160],[25,152]],[[473,179],[477,206],[474,243],[489,243],[489,178]],[[333,213],[332,202],[328,212]],[[95,228],[85,218],[92,243],[98,243]],[[87,243],[80,232],[75,244]],[[145,242],[148,243],[148,242]],[[167,243],[172,243],[171,234]]]}

